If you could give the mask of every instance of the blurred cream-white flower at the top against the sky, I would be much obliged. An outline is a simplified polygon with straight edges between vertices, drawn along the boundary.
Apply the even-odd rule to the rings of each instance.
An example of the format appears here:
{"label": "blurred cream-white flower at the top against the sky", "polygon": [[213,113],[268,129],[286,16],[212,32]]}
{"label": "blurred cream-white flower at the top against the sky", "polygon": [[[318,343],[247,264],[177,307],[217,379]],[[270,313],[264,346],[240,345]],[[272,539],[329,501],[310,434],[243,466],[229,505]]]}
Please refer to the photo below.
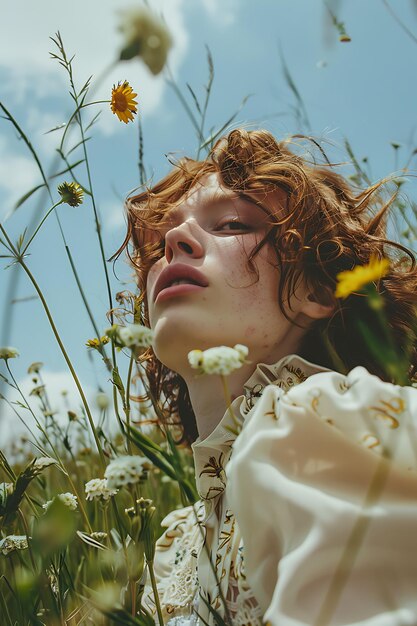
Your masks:
{"label": "blurred cream-white flower at the top against the sky", "polygon": [[172,37],[165,23],[149,9],[140,7],[123,12],[119,30],[125,38],[120,61],[139,57],[152,74],[159,74],[172,46]]}

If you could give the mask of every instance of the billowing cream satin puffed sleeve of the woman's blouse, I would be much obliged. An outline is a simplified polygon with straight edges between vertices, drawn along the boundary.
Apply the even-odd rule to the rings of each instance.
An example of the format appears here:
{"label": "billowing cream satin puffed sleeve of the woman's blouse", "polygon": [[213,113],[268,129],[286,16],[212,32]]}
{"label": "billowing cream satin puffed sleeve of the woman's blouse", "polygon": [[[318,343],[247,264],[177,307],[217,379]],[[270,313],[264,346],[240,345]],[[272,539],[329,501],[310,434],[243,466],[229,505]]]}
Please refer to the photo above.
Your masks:
{"label": "billowing cream satin puffed sleeve of the woman's blouse", "polygon": [[365,368],[265,387],[227,496],[272,626],[416,626],[417,389]]}

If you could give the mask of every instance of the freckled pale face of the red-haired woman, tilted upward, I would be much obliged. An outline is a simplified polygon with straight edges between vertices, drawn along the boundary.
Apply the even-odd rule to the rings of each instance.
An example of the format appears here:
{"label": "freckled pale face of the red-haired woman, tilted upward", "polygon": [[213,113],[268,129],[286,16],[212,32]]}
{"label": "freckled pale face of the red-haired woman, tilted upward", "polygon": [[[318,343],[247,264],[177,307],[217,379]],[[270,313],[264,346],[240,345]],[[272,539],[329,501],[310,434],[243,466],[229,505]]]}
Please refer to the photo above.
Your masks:
{"label": "freckled pale face of the red-haired woman, tilted upward", "polygon": [[[268,195],[275,208],[280,194]],[[170,369],[184,376],[187,354],[196,348],[243,343],[254,363],[274,362],[296,350],[289,344],[300,333],[294,334],[296,327],[278,306],[279,273],[271,245],[254,258],[259,280],[247,267],[248,255],[267,232],[267,219],[254,202],[221,186],[217,174],[203,178],[167,213],[160,229],[165,254],[149,271],[147,301],[155,354]],[[176,264],[196,268],[207,286],[171,289],[155,300],[161,272]],[[293,296],[291,304],[299,321],[302,300]]]}

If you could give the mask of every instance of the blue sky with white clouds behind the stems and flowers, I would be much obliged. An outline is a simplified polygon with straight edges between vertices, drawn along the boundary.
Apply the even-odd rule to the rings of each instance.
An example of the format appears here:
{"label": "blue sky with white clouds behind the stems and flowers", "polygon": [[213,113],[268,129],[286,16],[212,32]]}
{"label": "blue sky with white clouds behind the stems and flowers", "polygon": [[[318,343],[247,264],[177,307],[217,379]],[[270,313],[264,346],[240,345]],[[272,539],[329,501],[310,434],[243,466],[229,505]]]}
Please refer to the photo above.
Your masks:
{"label": "blue sky with white clouds behind the stems and flowers", "polygon": [[[74,73],[80,86],[89,75],[100,76],[114,60],[121,45],[118,12],[138,5],[141,2],[15,0],[2,7],[0,100],[25,129],[47,170],[59,134],[45,133],[65,122],[71,112],[65,72],[49,58],[53,49],[49,37],[59,30],[68,54],[76,54]],[[329,0],[328,6],[345,23],[350,43],[338,41],[322,0],[150,0],[150,5],[163,12],[172,32],[169,67],[185,94],[186,83],[190,83],[202,95],[207,80],[205,44],[211,49],[215,79],[207,129],[221,125],[242,99],[252,94],[235,126],[264,127],[277,137],[309,132],[328,142],[326,149],[334,160],[346,162],[346,174],[353,169],[343,149],[345,138],[359,159],[368,158],[373,180],[401,167],[417,145],[417,43],[393,19],[383,0]],[[417,36],[416,3],[391,0],[389,6]],[[280,50],[303,98],[309,127],[300,127],[294,116],[295,101],[283,77]],[[165,155],[194,156],[197,143],[193,129],[167,85],[166,73],[153,77],[137,60],[118,65],[106,75],[97,98],[108,99],[112,84],[124,79],[139,94],[145,163],[148,173],[158,179],[169,169]],[[192,106],[190,99],[189,103]],[[124,237],[123,199],[139,183],[137,125],[125,126],[107,105],[102,108],[88,149],[109,257]],[[398,161],[391,142],[401,146]],[[85,181],[83,173],[80,177]],[[17,198],[39,182],[23,142],[11,125],[0,119],[2,220]],[[413,182],[408,193],[415,198]],[[31,222],[39,203],[43,214],[48,202],[38,194],[4,222],[13,239]],[[105,329],[108,300],[91,206],[86,202],[73,209],[60,207],[59,216],[94,316]],[[34,290],[23,274],[18,278],[18,302],[6,302],[11,270],[4,270],[7,261],[0,261],[2,326],[8,318],[12,322],[10,335],[4,337],[3,333],[1,343],[19,349],[20,357],[11,365],[25,388],[31,385],[26,374],[29,364],[44,362],[45,378],[58,404],[60,390],[65,386],[72,389],[65,362],[39,300],[27,299],[34,296]],[[83,384],[91,393],[97,385],[110,391],[108,374],[98,355],[91,360],[84,346],[94,332],[53,215],[31,247],[28,263]],[[112,274],[110,265],[109,270]],[[117,263],[116,272],[121,281],[130,280],[130,270],[123,261]],[[112,275],[113,295],[133,288],[132,282],[124,285],[120,280]],[[78,403],[75,393],[71,397]],[[8,415],[7,409],[5,419]]]}

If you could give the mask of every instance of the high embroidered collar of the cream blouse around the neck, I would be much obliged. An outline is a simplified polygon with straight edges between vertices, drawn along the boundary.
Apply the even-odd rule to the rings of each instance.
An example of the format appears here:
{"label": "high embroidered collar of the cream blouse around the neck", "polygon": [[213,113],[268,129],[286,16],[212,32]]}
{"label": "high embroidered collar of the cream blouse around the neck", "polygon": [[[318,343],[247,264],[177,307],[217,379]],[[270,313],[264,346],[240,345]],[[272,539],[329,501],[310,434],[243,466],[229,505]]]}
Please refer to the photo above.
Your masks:
{"label": "high embroidered collar of the cream blouse around the neck", "polygon": [[[310,363],[295,354],[286,356],[272,365],[258,363],[255,371],[243,385],[244,393],[231,403],[231,410],[238,421],[243,423],[267,385],[276,385],[284,391],[288,391],[312,374],[326,371],[328,371],[327,368]],[[235,421],[228,409],[216,428],[207,437],[204,439],[198,437],[191,445],[194,454],[197,490],[203,501],[213,501],[225,490],[225,467],[232,452],[233,442],[236,439],[236,434],[232,432],[235,429]]]}

